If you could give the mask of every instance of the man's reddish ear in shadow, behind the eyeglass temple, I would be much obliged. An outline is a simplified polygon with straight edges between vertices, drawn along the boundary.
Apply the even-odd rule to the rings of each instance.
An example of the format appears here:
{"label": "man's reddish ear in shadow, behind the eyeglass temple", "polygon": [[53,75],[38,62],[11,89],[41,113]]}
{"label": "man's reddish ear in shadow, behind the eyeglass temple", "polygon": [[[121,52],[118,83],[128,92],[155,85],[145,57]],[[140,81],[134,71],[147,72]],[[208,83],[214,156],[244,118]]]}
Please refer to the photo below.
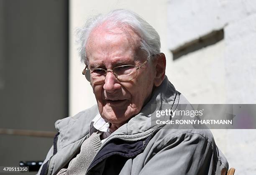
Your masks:
{"label": "man's reddish ear in shadow, behind the eyeglass temple", "polygon": [[154,79],[154,85],[155,86],[160,86],[160,84],[164,80],[165,76],[165,68],[166,68],[166,58],[164,53],[159,53],[156,55],[156,63],[155,63],[155,68],[156,68],[156,76]]}

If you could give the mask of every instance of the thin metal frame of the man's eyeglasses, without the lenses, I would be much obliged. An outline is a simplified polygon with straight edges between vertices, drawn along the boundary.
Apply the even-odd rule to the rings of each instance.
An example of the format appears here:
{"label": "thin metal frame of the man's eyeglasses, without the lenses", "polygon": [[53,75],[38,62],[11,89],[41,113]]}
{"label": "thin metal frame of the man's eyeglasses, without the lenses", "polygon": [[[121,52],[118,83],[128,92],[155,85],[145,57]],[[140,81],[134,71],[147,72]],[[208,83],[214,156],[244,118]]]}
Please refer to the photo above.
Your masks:
{"label": "thin metal frame of the man's eyeglasses, without the lenses", "polygon": [[[146,59],[146,61],[144,61],[143,63],[141,63],[139,66],[134,66],[134,65],[132,65],[132,64],[126,64],[126,65],[122,65],[122,66],[134,66],[135,68],[136,68],[136,76],[138,75],[138,69],[141,69],[141,67],[142,66],[145,66],[146,65],[146,63],[148,62],[148,60],[149,60],[150,58],[148,58],[148,59]],[[116,67],[114,67],[114,68],[117,68],[117,67],[122,67],[122,66],[116,66]],[[90,70],[90,69],[97,69],[97,68],[88,68],[88,66],[85,66],[85,68],[84,68],[84,70],[82,71],[82,74],[85,76],[85,71],[87,71],[87,70]],[[114,69],[113,68],[113,69]],[[87,69],[87,70],[86,70]],[[105,79],[106,79],[106,76],[107,76],[107,73],[108,72],[113,72],[113,69],[105,69],[105,68],[98,68],[98,69],[103,69],[103,70],[105,70],[105,74],[104,74],[104,76],[105,76]],[[115,72],[113,72],[113,74],[114,74],[114,76],[115,76],[115,78],[116,79],[118,79],[117,78],[117,75],[115,74]],[[134,77],[134,78],[132,78],[132,79],[135,79],[136,78],[136,76]],[[87,80],[87,81],[89,81],[87,78],[86,78],[86,76],[85,76],[85,79]],[[104,79],[104,81],[105,81],[105,79]],[[118,81],[131,81],[132,79],[130,79],[130,80],[119,80],[118,79]],[[104,83],[104,81],[102,82],[102,83]],[[90,82],[90,81],[89,81]],[[90,83],[92,83],[92,82],[90,82]],[[102,83],[92,83],[92,84],[102,84]]]}

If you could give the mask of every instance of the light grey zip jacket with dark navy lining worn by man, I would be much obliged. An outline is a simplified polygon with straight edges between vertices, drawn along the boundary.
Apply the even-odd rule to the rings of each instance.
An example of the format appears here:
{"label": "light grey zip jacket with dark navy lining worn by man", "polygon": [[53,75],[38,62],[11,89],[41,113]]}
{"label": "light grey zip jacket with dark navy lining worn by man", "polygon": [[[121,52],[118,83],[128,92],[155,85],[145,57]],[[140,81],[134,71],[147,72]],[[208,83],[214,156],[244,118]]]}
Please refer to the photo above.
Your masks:
{"label": "light grey zip jacket with dark navy lining worn by man", "polygon": [[[189,102],[165,77],[141,112],[113,132],[102,144],[87,175],[225,175],[228,162],[209,129],[174,129],[154,124],[164,104]],[[97,105],[55,123],[58,134],[38,174],[55,175],[77,155]]]}

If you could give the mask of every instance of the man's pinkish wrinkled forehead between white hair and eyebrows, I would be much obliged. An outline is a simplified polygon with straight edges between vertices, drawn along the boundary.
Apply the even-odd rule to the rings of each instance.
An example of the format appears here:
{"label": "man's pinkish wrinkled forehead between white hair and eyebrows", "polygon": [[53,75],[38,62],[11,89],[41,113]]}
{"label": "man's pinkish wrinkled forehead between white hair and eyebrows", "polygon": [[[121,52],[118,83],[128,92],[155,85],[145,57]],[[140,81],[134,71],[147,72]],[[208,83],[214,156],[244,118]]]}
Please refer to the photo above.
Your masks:
{"label": "man's pinkish wrinkled forehead between white hair and eyebrows", "polygon": [[140,37],[129,27],[99,26],[95,28],[87,41],[87,59],[95,60],[97,56],[108,57],[118,54],[136,58],[141,51]]}

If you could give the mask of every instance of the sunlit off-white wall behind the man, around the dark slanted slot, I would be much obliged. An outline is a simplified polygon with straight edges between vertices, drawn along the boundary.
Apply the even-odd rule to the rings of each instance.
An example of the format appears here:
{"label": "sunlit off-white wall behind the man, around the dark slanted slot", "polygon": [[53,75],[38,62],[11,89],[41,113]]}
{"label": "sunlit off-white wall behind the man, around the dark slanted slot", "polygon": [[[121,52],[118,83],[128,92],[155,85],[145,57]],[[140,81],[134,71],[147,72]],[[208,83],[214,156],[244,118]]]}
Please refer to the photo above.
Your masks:
{"label": "sunlit off-white wall behind the man, around the dark slanted slot", "polygon": [[[74,29],[89,15],[126,8],[140,14],[161,37],[167,58],[166,74],[194,104],[255,103],[256,2],[253,0],[112,0],[70,1],[69,114],[96,103],[89,83],[82,76]],[[224,30],[222,41],[176,60],[171,50]],[[218,147],[236,174],[255,174],[255,130],[212,130]]]}

